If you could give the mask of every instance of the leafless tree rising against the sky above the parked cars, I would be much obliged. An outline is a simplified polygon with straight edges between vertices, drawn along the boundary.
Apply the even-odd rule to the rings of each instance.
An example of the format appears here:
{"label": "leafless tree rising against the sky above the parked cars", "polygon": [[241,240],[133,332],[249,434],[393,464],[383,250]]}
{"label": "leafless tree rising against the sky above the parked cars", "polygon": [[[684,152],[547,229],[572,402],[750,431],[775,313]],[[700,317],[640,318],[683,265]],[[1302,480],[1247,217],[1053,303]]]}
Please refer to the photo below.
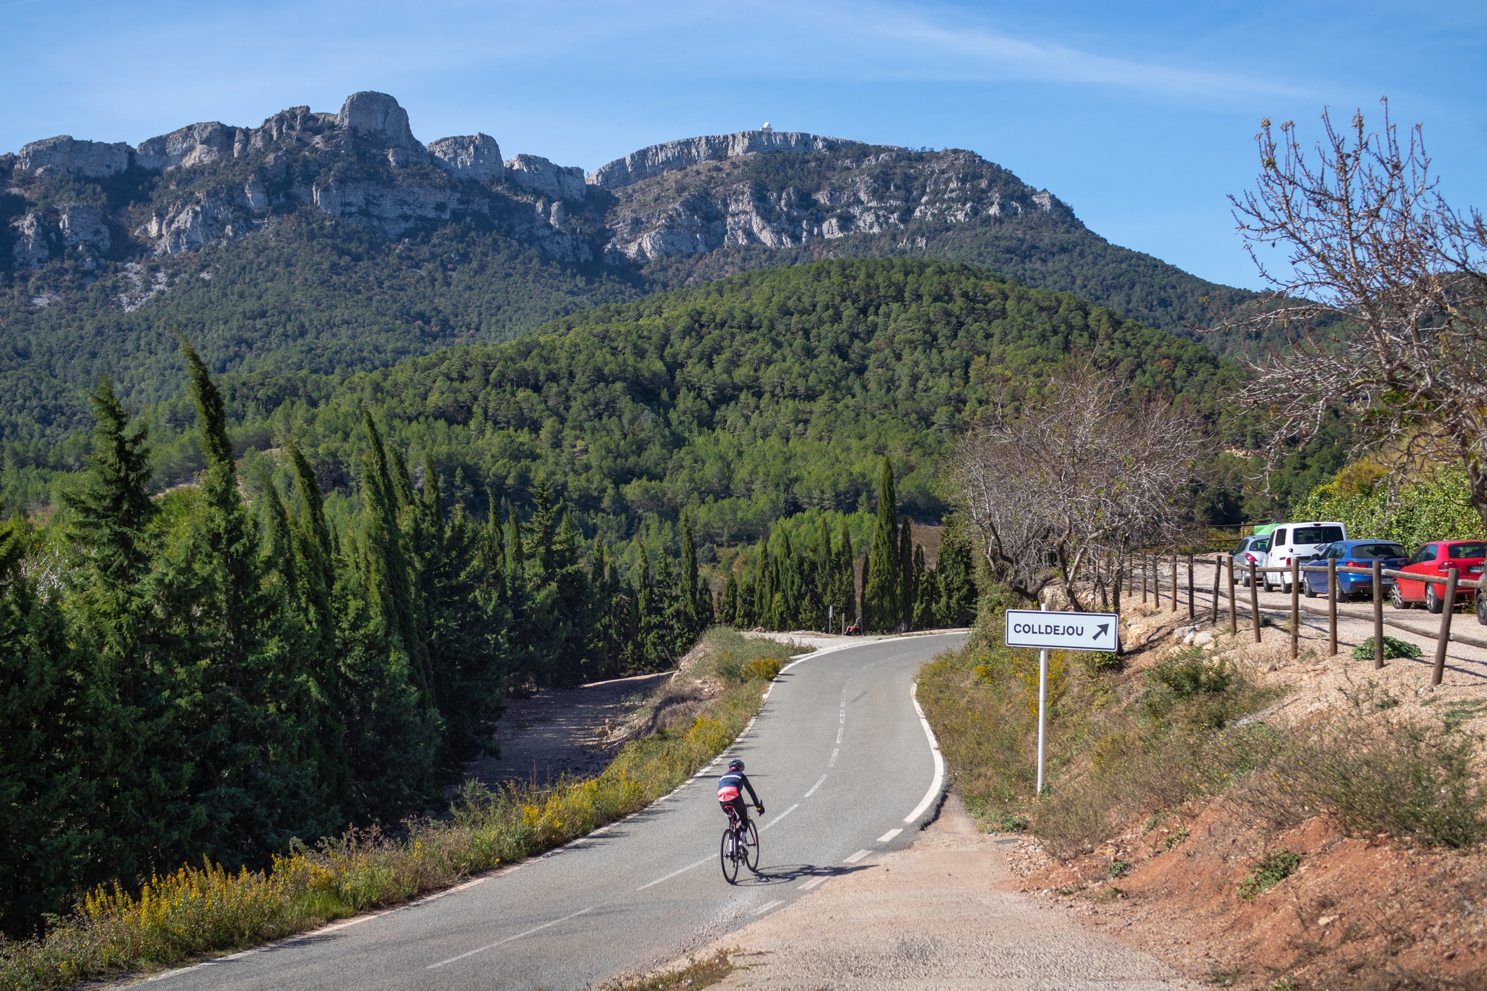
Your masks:
{"label": "leafless tree rising against the sky above the parked cars", "polygon": [[1322,125],[1304,153],[1292,122],[1277,137],[1265,120],[1257,189],[1230,198],[1273,291],[1228,325],[1289,342],[1251,363],[1242,394],[1273,425],[1267,464],[1340,409],[1359,450],[1460,464],[1487,524],[1487,227],[1447,205],[1422,128],[1401,140],[1387,101],[1380,131],[1362,111]]}

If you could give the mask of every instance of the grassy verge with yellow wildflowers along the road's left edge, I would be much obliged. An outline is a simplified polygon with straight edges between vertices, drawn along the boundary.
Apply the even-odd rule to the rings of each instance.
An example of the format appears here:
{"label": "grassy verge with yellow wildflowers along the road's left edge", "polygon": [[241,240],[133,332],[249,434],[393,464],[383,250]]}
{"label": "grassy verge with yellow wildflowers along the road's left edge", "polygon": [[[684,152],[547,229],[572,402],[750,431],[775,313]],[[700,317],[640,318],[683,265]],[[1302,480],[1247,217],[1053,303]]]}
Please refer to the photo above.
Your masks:
{"label": "grassy verge with yellow wildflowers along the road's left edge", "polygon": [[[779,672],[778,643],[709,637],[712,648],[697,663],[717,680],[711,697],[686,727],[626,743],[598,777],[498,790],[471,782],[448,820],[410,820],[404,838],[351,831],[314,850],[296,844],[266,871],[232,874],[204,863],[153,877],[135,891],[98,888],[45,939],[0,938],[0,988],[58,988],[242,949],[449,887],[628,816],[726,749],[758,712],[758,679]],[[715,664],[724,648],[736,654]]]}

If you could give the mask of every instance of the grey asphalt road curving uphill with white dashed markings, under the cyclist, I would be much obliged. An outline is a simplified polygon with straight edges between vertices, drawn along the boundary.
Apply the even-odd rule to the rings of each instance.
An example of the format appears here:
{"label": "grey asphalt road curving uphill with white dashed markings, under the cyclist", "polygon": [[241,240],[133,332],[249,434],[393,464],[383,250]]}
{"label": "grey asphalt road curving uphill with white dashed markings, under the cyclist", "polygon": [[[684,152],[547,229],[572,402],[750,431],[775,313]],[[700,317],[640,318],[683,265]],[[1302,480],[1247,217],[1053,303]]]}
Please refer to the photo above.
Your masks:
{"label": "grey asphalt road curving uphill with white dashed markings, under the cyclist", "polygon": [[583,988],[665,963],[909,845],[943,773],[913,676],[964,634],[809,655],[729,752],[764,802],[760,875],[718,868],[721,762],[590,838],[440,897],[156,978],[171,988]]}

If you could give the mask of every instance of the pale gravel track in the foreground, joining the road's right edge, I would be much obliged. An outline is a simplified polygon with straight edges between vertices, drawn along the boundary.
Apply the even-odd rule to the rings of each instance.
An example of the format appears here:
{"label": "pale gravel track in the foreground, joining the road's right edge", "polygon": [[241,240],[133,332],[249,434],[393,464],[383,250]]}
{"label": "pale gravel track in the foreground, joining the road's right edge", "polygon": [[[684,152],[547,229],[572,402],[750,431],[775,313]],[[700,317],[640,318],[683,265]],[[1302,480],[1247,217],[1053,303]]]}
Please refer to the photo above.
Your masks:
{"label": "pale gravel track in the foreground, joining the road's right edge", "polygon": [[1201,987],[1010,890],[1007,842],[952,795],[915,845],[845,866],[700,955],[733,951],[718,988]]}

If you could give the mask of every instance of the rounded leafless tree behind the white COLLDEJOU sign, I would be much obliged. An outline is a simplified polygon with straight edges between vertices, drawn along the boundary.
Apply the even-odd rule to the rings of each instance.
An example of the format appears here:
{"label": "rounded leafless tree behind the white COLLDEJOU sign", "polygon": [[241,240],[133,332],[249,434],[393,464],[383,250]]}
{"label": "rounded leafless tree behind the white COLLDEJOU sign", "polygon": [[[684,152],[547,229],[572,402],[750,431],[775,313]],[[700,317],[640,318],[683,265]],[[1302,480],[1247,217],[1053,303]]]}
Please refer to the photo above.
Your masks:
{"label": "rounded leafless tree behind the white COLLDEJOU sign", "polygon": [[1057,584],[1083,609],[1078,582],[1099,554],[1124,562],[1191,526],[1201,425],[1166,401],[1133,401],[1123,385],[1077,365],[952,456],[952,498],[992,572],[1025,599]]}

